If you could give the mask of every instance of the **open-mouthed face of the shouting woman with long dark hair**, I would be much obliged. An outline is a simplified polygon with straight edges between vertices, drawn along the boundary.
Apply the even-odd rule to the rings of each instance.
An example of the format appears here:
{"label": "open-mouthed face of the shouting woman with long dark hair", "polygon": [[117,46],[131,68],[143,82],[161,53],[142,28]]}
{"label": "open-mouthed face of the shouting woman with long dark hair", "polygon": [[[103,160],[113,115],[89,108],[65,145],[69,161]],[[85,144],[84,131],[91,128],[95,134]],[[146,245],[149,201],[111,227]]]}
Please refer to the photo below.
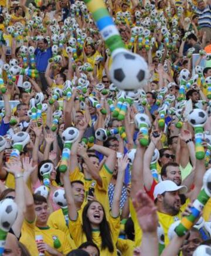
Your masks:
{"label": "open-mouthed face of the shouting woman with long dark hair", "polygon": [[103,221],[104,211],[100,203],[93,201],[87,211],[87,217],[92,225],[100,225]]}

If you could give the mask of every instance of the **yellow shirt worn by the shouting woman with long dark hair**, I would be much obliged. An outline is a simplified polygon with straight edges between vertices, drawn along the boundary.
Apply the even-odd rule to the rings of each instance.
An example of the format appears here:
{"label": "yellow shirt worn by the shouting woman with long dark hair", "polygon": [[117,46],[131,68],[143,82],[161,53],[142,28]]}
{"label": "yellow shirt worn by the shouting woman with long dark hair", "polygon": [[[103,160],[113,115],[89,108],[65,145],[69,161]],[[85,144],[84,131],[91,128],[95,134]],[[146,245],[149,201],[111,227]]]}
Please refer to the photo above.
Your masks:
{"label": "yellow shirt worn by the shouting woman with long dark hair", "polygon": [[[120,232],[120,217],[113,218],[109,215],[107,219],[111,230],[111,239],[113,241],[114,252],[108,251],[108,249],[101,249],[102,239],[100,235],[100,230],[93,230],[92,238],[93,242],[97,245],[100,250],[100,256],[116,256],[117,250],[115,244],[117,244],[118,234]],[[76,221],[69,220],[69,231],[72,234],[73,240],[76,246],[79,247],[80,244],[87,241],[86,234],[83,233],[82,222],[78,217]],[[103,234],[102,234],[103,235]]]}

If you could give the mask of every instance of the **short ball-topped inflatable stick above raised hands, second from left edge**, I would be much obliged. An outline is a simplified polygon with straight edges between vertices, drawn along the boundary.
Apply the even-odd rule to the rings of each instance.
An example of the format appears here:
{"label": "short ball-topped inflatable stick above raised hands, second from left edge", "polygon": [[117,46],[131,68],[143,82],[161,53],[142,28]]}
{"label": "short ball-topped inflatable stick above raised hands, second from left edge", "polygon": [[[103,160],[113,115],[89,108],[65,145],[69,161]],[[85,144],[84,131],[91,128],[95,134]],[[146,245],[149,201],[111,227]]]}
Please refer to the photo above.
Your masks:
{"label": "short ball-topped inflatable stick above raised hands, second from left edge", "polygon": [[30,136],[28,133],[26,132],[19,132],[19,133],[15,133],[12,136],[12,152],[10,155],[11,157],[19,157],[21,151],[23,150],[23,148],[26,146],[26,144],[29,143],[30,140]]}

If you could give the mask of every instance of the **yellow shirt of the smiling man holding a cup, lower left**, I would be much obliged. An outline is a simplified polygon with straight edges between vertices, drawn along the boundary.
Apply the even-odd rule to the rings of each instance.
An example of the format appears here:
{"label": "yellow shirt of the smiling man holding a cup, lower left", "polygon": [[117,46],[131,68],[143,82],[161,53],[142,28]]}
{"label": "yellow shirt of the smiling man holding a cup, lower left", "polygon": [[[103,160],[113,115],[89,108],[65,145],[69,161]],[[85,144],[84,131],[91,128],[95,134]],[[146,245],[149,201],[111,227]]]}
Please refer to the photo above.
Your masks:
{"label": "yellow shirt of the smiling man holding a cup, lower left", "polygon": [[[67,254],[72,250],[70,236],[66,235],[63,231],[56,230],[55,228],[51,228],[48,226],[43,228],[35,227],[35,236],[36,235],[42,235],[43,241],[52,248],[55,248],[53,242],[57,238],[60,241],[60,247],[55,249],[62,254]],[[45,255],[51,254],[45,252]]]}

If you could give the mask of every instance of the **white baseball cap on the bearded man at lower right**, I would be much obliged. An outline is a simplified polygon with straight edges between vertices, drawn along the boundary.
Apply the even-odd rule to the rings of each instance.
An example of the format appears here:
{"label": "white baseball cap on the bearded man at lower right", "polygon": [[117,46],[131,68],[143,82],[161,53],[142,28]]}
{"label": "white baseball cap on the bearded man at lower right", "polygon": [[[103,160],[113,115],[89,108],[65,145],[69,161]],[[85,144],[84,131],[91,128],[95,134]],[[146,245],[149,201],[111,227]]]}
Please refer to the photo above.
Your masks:
{"label": "white baseball cap on the bearded man at lower right", "polygon": [[171,180],[164,180],[160,183],[156,184],[154,189],[154,200],[158,197],[158,195],[163,194],[164,192],[172,192],[172,191],[178,191],[181,194],[184,194],[188,191],[188,188],[186,186],[177,186],[176,183],[174,183]]}

